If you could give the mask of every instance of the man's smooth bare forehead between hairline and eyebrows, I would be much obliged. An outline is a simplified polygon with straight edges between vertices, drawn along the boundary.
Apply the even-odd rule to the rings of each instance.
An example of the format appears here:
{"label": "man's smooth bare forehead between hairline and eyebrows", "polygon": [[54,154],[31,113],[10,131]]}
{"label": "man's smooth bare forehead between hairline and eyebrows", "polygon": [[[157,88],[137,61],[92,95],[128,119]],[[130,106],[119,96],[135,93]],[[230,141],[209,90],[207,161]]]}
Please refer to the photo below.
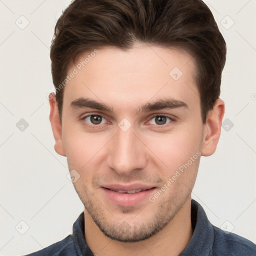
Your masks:
{"label": "man's smooth bare forehead between hairline and eyebrows", "polygon": [[127,109],[163,96],[199,102],[194,59],[184,50],[141,44],[128,50],[103,47],[81,54],[67,75],[72,72],[63,104],[83,96]]}

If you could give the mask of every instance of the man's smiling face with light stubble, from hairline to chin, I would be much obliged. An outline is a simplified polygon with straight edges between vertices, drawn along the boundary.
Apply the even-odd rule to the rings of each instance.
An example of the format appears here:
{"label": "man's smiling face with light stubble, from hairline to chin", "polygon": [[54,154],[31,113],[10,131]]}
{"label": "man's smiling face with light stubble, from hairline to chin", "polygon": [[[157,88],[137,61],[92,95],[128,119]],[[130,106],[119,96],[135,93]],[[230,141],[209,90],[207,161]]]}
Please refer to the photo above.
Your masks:
{"label": "man's smiling face with light stubble, from hairline to chin", "polygon": [[203,139],[195,63],[185,51],[136,44],[98,49],[79,70],[88,54],[68,71],[78,72],[64,88],[62,154],[100,230],[143,240],[190,200]]}

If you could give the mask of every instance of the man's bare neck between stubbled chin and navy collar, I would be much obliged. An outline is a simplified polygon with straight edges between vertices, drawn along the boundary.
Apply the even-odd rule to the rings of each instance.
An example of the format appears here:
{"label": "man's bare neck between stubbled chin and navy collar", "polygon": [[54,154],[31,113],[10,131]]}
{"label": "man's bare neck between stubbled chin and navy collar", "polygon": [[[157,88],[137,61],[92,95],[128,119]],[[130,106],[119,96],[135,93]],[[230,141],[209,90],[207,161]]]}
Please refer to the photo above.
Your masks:
{"label": "man's bare neck between stubbled chin and navy collar", "polygon": [[128,256],[136,252],[136,256],[179,255],[192,236],[191,198],[190,196],[172,220],[159,232],[146,240],[138,242],[119,242],[105,236],[84,210],[85,240],[94,255]]}

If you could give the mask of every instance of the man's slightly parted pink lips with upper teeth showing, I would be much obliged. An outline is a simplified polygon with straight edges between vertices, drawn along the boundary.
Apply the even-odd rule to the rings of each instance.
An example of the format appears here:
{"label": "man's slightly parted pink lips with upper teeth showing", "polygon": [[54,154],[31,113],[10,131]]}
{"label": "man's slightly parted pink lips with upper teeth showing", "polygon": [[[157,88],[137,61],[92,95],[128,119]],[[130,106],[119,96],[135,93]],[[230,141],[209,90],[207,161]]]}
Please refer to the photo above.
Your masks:
{"label": "man's slightly parted pink lips with upper teeth showing", "polygon": [[115,205],[135,206],[148,201],[149,196],[157,189],[155,186],[145,185],[108,185],[100,187],[103,195]]}

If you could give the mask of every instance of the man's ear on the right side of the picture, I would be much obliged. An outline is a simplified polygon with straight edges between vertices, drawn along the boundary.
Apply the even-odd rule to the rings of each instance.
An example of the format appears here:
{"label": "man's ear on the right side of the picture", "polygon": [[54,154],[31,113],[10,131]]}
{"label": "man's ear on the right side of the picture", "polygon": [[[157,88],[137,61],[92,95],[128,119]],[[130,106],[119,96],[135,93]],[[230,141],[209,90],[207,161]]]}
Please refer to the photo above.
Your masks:
{"label": "man's ear on the right side of the picture", "polygon": [[218,98],[203,124],[203,140],[201,155],[209,156],[216,150],[221,131],[221,122],[224,115],[224,101]]}

